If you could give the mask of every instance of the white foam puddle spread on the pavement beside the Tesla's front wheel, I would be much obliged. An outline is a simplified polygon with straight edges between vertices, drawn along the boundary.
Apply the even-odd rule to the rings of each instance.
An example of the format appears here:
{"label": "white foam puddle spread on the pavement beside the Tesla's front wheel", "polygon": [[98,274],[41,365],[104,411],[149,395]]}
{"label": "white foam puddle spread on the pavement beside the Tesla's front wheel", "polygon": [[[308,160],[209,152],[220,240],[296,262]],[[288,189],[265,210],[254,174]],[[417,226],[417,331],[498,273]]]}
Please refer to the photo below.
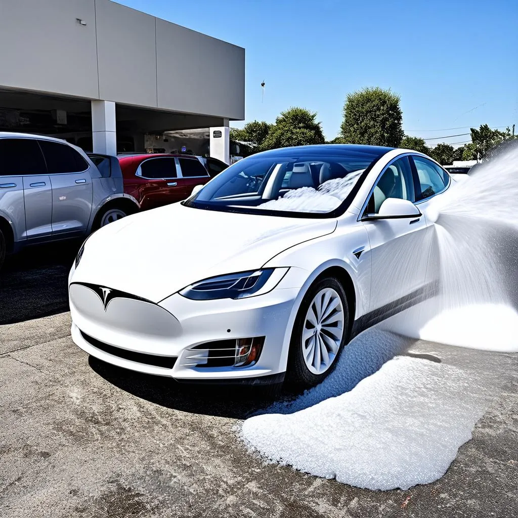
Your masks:
{"label": "white foam puddle spread on the pavement beside the Tesla's front wheel", "polygon": [[[340,367],[332,377],[344,377]],[[476,372],[396,356],[350,392],[324,399],[316,387],[292,405],[309,408],[253,416],[242,438],[271,462],[372,490],[407,489],[441,477],[471,438],[487,406],[480,383]]]}

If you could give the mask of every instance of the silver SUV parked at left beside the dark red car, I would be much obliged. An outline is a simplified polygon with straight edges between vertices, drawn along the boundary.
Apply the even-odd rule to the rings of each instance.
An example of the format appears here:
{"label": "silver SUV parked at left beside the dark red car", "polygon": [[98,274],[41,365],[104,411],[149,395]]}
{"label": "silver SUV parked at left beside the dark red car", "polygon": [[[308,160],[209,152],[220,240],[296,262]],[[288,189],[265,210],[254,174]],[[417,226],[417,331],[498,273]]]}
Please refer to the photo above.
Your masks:
{"label": "silver SUV parked at left beside the dark red car", "polygon": [[0,132],[0,267],[6,253],[86,236],[139,210],[114,156],[56,138]]}

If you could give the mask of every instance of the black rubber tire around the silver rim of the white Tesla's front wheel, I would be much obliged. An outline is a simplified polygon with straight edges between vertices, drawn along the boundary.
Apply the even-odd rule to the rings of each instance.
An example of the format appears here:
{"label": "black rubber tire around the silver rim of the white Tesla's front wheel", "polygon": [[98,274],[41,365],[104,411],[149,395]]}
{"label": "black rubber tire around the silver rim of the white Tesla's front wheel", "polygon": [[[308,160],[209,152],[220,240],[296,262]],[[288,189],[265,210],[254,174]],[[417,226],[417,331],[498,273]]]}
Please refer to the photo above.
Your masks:
{"label": "black rubber tire around the silver rim of the white Tesla's front wheel", "polygon": [[[311,372],[306,365],[303,354],[303,332],[306,325],[306,314],[315,296],[322,290],[330,288],[334,290],[340,297],[343,308],[343,325],[342,325],[342,339],[336,355],[325,372],[315,374]],[[350,325],[349,325],[349,306],[347,301],[347,294],[343,289],[342,284],[334,277],[326,277],[316,281],[307,291],[304,296],[300,308],[298,310],[295,322],[293,324],[290,352],[288,355],[288,364],[286,370],[286,381],[289,384],[295,385],[297,388],[306,389],[320,383],[330,372],[335,368],[338,358],[347,343],[350,340]]]}

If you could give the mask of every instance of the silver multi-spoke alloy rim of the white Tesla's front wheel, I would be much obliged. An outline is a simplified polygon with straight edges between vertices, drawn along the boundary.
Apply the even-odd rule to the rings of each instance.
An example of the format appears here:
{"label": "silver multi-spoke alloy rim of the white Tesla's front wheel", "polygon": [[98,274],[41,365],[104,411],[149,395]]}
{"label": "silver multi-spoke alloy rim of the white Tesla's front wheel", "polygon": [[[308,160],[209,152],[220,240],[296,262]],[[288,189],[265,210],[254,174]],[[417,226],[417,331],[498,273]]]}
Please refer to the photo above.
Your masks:
{"label": "silver multi-spoke alloy rim of the white Tesla's front wheel", "polygon": [[343,305],[330,287],[319,291],[311,301],[302,333],[302,353],[310,372],[325,372],[334,362],[343,337]]}

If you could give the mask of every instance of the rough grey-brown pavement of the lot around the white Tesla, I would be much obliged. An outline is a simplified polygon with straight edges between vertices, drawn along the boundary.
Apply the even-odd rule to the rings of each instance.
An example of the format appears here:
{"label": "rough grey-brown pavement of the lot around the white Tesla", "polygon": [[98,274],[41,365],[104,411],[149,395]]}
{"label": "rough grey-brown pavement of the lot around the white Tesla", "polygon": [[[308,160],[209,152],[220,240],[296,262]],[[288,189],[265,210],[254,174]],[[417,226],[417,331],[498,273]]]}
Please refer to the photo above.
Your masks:
{"label": "rough grey-brown pavement of the lot around the white Tesla", "polygon": [[35,249],[0,275],[3,518],[518,515],[518,355],[415,343],[409,354],[495,371],[498,396],[440,480],[360,490],[251,455],[235,427],[264,394],[138,375],[74,346],[74,255]]}

